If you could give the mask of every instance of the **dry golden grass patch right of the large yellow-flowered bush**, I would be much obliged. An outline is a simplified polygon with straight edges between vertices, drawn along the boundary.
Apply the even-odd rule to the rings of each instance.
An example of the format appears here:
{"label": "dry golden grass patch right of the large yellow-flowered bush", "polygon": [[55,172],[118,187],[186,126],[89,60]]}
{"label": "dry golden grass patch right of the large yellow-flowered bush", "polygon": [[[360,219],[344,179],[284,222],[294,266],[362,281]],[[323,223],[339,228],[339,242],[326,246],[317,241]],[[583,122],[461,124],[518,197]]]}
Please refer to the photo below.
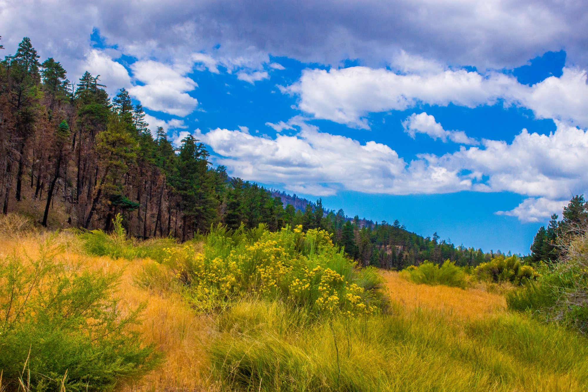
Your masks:
{"label": "dry golden grass patch right of the large yellow-flowered bush", "polygon": [[413,310],[417,307],[442,310],[457,317],[479,318],[506,310],[505,297],[479,288],[462,290],[443,285],[415,284],[395,271],[380,271],[392,301]]}

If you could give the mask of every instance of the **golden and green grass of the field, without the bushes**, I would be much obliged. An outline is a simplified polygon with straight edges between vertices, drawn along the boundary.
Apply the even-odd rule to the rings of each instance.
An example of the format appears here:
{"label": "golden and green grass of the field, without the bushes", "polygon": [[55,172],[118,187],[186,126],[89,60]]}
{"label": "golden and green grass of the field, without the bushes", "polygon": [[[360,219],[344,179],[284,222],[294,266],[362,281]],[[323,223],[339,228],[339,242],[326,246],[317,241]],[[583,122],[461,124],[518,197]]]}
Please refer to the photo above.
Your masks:
{"label": "golden and green grass of the field, without the bushes", "polygon": [[[4,233],[0,259],[34,258],[48,235]],[[586,337],[510,313],[483,285],[419,285],[380,271],[390,303],[373,315],[318,317],[253,294],[202,313],[175,283],[142,283],[151,259],[95,257],[69,232],[54,241],[64,263],[121,274],[121,317],[147,304],[133,328],[165,360],[119,391],[588,390]]]}

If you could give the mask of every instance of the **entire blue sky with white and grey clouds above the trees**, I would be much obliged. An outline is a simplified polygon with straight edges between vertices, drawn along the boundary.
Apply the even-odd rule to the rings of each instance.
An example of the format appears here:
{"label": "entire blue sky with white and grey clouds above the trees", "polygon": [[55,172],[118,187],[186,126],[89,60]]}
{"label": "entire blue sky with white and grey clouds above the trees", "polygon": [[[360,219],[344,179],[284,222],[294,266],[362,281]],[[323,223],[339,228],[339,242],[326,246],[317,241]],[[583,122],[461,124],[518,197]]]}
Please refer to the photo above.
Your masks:
{"label": "entire blue sky with white and grey clouds above the trees", "polygon": [[229,175],[523,254],[588,192],[587,26],[572,0],[0,0],[3,55],[29,36]]}

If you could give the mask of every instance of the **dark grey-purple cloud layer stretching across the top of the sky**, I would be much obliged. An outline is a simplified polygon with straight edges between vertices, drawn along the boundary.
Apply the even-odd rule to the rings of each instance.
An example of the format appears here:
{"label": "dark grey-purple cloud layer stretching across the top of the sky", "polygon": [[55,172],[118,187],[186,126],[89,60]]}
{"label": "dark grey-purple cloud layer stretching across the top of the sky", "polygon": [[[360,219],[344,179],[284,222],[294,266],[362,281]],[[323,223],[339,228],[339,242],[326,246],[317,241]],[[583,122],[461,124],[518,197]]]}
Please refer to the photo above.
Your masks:
{"label": "dark grey-purple cloud layer stretching across the top of the sky", "polygon": [[[395,62],[393,54],[405,54],[452,66],[503,69],[565,49],[569,64],[588,64],[586,34],[577,27],[588,20],[581,1],[554,6],[523,0],[398,0],[390,6],[377,0],[302,0],[264,2],[263,12],[255,0],[176,0],[165,9],[154,1],[0,4],[8,54],[30,36],[42,57],[55,57],[70,71],[83,62],[93,28],[122,53],[161,62],[215,52],[213,57],[225,58],[226,64],[243,64],[241,57],[265,57],[263,64],[269,64],[271,54],[330,65],[353,58],[377,67]],[[61,20],[68,23],[54,23]],[[216,67],[201,64],[211,71]]]}

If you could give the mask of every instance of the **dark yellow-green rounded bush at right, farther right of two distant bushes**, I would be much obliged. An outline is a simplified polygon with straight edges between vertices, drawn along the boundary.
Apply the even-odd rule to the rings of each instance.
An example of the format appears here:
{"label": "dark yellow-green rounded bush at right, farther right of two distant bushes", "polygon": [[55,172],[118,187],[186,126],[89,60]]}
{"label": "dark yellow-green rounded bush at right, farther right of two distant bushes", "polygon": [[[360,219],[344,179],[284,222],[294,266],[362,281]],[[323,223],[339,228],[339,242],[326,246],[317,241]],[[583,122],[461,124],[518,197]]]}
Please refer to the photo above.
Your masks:
{"label": "dark yellow-green rounded bush at right, farther right of two distant bushes", "polygon": [[505,258],[503,255],[493,258],[487,263],[478,265],[474,275],[483,281],[510,282],[516,285],[536,277],[536,272],[530,265],[521,265],[517,256]]}

